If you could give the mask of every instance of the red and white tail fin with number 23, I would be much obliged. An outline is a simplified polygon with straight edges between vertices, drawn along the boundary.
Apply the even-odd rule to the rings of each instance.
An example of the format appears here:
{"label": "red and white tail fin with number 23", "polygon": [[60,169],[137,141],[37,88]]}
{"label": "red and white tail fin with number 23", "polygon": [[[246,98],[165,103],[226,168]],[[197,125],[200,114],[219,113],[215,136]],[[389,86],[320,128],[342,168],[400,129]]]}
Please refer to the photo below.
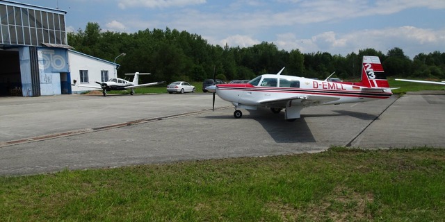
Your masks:
{"label": "red and white tail fin with number 23", "polygon": [[363,56],[360,85],[370,88],[389,88],[389,83],[378,56]]}

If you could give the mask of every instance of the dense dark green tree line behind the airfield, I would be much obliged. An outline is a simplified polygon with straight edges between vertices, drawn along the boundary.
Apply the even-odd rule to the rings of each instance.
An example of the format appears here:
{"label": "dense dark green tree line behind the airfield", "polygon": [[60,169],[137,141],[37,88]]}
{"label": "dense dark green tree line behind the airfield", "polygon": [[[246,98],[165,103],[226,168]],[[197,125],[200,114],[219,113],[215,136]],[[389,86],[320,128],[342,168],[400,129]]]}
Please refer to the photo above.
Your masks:
{"label": "dense dark green tree line behind the airfield", "polygon": [[260,74],[282,74],[324,79],[335,71],[343,79],[360,77],[362,56],[379,56],[387,76],[399,78],[445,78],[445,53],[419,53],[410,59],[403,49],[386,54],[375,49],[362,49],[346,56],[328,52],[301,53],[298,49],[279,50],[269,42],[241,48],[212,45],[200,35],[176,29],[154,28],[136,33],[103,32],[99,24],[89,22],[85,30],[68,33],[68,44],[76,51],[114,61],[120,65],[118,76],[125,73],[151,72],[141,76],[146,81],[202,81],[252,79]]}

